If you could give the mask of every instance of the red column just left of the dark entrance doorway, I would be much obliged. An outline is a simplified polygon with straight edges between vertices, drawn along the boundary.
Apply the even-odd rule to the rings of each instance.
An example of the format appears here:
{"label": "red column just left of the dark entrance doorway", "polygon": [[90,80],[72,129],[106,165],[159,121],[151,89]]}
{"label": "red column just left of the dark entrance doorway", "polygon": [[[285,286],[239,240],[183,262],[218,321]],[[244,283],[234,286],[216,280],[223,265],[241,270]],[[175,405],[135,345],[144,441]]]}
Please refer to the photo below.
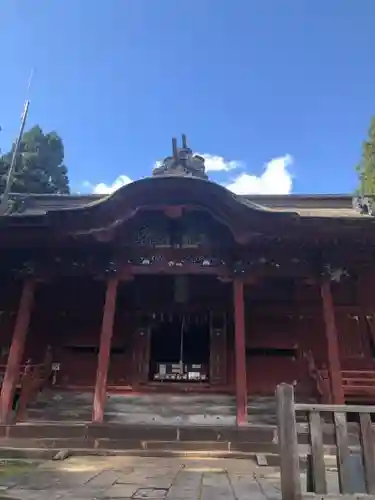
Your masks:
{"label": "red column just left of the dark entrance doorway", "polygon": [[107,283],[107,291],[104,302],[98,368],[96,371],[94,405],[92,412],[92,421],[97,423],[103,422],[104,418],[104,406],[107,396],[108,368],[111,356],[111,340],[116,314],[117,286],[118,278],[110,278]]}

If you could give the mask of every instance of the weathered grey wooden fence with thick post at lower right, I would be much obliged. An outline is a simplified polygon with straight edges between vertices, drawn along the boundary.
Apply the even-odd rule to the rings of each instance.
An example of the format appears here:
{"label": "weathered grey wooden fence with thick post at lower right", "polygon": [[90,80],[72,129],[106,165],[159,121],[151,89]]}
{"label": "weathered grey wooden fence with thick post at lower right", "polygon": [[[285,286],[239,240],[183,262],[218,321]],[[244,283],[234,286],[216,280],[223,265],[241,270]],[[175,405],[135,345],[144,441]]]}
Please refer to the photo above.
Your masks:
{"label": "weathered grey wooden fence with thick post at lower right", "polygon": [[[342,495],[356,495],[375,500],[375,457],[374,429],[371,414],[375,406],[314,405],[298,404],[294,401],[294,389],[291,385],[281,384],[276,389],[278,441],[280,450],[281,492],[283,500],[301,500],[301,498],[340,498]],[[307,477],[310,479],[312,493],[303,493],[301,485],[301,457],[298,445],[296,412],[307,416],[309,455]],[[322,413],[327,415],[335,440],[337,474],[340,495],[328,494],[327,467],[324,454]],[[349,442],[348,414],[357,415],[359,427],[359,450],[354,450]],[[354,420],[356,417],[354,417]],[[358,460],[360,457],[358,468]],[[360,470],[360,472],[359,472]],[[356,491],[358,475],[363,477],[366,493]]]}

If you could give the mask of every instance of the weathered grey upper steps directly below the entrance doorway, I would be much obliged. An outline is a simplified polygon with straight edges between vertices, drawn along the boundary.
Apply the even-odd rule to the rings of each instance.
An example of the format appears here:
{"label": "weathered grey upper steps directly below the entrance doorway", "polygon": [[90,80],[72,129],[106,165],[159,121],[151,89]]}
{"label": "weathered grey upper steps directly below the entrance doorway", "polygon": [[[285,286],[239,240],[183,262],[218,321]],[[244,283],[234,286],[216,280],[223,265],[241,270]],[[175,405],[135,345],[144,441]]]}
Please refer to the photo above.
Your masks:
{"label": "weathered grey upper steps directly below the entrance doorway", "polygon": [[[44,391],[31,405],[28,418],[47,421],[90,421],[93,394]],[[276,423],[273,397],[249,398],[249,423]],[[109,394],[105,420],[133,425],[235,425],[235,398],[222,394]]]}

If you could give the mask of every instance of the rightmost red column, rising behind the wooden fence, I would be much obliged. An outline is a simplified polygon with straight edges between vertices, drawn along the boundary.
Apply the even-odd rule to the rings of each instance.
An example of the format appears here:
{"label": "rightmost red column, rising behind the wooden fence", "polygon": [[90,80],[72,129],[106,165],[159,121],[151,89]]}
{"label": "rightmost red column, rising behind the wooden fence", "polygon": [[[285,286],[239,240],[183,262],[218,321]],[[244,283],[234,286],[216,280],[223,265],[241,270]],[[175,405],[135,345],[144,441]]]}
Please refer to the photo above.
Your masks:
{"label": "rightmost red column, rising behind the wooden fence", "polygon": [[340,351],[337,338],[335,310],[333,305],[331,284],[324,280],[320,287],[323,301],[323,316],[328,351],[328,374],[333,404],[344,404],[344,389],[342,382]]}

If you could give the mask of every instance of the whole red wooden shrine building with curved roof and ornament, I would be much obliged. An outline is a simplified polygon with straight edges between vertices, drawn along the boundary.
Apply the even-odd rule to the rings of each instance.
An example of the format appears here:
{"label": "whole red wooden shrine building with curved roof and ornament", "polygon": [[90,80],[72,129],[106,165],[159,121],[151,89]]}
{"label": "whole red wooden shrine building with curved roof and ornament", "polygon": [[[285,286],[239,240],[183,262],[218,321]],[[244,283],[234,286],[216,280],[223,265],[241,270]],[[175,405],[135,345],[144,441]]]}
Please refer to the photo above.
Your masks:
{"label": "whole red wooden shrine building with curved roof and ornament", "polygon": [[12,195],[2,422],[17,398],[32,419],[45,391],[85,394],[96,423],[111,395],[170,395],[172,407],[194,394],[232,398],[244,425],[281,382],[302,401],[375,404],[374,244],[369,200],[235,195],[184,136],[113,194]]}

